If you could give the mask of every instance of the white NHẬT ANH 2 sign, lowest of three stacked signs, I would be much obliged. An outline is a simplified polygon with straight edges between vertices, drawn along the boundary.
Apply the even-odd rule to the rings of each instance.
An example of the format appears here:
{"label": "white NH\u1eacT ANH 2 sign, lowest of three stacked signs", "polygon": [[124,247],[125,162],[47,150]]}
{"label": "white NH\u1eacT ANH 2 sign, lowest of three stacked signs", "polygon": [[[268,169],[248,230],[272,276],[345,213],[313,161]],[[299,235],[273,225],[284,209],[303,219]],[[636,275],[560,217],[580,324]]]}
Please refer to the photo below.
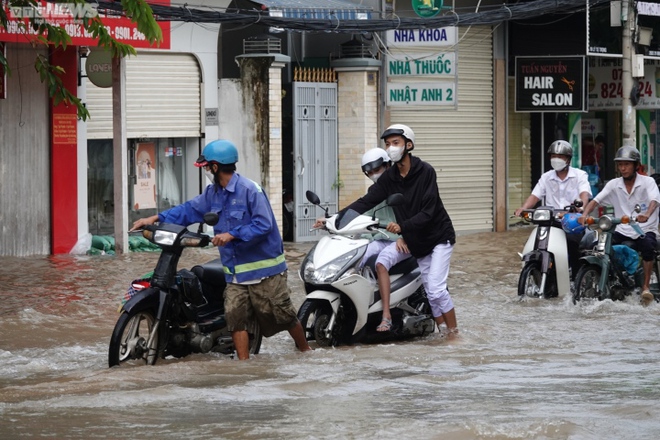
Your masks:
{"label": "white NH\u1eacT ANH 2 sign, lowest of three stacked signs", "polygon": [[455,106],[456,83],[434,81],[428,83],[390,82],[387,84],[388,106]]}

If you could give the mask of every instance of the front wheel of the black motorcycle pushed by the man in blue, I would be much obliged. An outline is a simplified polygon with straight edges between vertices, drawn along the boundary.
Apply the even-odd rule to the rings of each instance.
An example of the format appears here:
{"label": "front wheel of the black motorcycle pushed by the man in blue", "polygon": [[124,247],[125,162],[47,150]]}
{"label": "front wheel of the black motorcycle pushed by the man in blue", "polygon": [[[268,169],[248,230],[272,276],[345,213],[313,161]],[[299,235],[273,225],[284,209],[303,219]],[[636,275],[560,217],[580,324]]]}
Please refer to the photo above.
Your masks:
{"label": "front wheel of the black motorcycle pushed by the man in blue", "polygon": [[[158,358],[159,332],[156,332],[153,344],[150,347],[147,346],[154,321],[151,310],[123,312],[117,320],[110,338],[108,365],[114,367],[130,363],[130,361],[154,365]],[[150,351],[156,354],[150,356]]]}

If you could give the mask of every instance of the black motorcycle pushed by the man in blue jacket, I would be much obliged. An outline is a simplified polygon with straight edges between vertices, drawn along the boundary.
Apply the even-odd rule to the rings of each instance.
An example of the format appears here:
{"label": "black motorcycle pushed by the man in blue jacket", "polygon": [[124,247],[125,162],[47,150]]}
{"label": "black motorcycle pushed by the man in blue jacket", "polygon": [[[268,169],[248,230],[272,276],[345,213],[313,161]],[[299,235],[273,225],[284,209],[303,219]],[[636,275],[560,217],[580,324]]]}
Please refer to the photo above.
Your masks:
{"label": "black motorcycle pushed by the man in blue jacket", "polygon": [[[205,247],[211,242],[211,237],[202,233],[204,224],[217,223],[218,215],[208,213],[197,232],[167,223],[142,231],[162,252],[145,288],[133,289],[134,295],[120,309],[110,338],[110,367],[154,365],[158,358],[180,358],[190,353],[234,353],[224,314],[226,282],[220,259],[191,270],[177,270],[184,248]],[[139,284],[135,288],[139,289]],[[258,326],[249,338],[250,354],[258,353],[262,340]]]}

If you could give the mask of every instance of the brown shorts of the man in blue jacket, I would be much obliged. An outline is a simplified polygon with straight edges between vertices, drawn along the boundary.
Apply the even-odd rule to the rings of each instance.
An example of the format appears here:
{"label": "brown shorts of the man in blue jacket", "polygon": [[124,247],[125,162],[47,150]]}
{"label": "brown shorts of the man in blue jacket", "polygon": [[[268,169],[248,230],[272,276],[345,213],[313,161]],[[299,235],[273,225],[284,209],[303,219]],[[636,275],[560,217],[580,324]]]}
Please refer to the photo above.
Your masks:
{"label": "brown shorts of the man in blue jacket", "polygon": [[225,317],[229,331],[254,332],[254,324],[268,337],[296,325],[298,316],[291,303],[287,272],[264,278],[257,284],[227,284]]}

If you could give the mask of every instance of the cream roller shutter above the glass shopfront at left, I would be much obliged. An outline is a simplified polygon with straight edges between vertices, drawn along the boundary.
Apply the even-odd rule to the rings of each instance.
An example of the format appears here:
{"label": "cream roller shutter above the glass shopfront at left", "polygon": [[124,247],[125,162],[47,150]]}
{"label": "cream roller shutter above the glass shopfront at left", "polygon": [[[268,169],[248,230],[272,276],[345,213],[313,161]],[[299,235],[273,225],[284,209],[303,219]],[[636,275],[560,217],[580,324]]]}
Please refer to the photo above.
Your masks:
{"label": "cream roller shutter above the glass shopfront at left", "polygon": [[[201,82],[191,54],[138,52],[127,58],[127,137],[201,137]],[[86,84],[87,138],[111,139],[112,88]]]}

